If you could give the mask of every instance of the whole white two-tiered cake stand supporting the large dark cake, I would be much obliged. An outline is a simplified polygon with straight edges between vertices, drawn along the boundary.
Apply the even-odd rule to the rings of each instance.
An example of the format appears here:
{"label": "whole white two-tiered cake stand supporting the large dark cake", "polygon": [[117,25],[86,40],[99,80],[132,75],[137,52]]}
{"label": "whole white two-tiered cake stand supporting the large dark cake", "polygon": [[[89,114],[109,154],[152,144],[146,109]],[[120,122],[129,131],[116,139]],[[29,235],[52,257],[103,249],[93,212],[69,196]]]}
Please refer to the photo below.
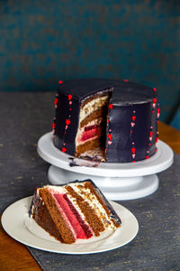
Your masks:
{"label": "whole white two-tiered cake stand supporting the large dark cake", "polygon": [[[38,141],[38,154],[51,164],[48,178],[52,184],[63,184],[75,180],[91,179],[108,200],[133,200],[157,191],[156,173],[173,164],[172,149],[158,141],[157,153],[148,160],[136,163],[101,163],[97,167],[70,166],[69,154],[62,153],[53,145],[52,133],[42,135]],[[77,159],[84,163],[84,160]],[[91,163],[90,163],[91,164]]]}

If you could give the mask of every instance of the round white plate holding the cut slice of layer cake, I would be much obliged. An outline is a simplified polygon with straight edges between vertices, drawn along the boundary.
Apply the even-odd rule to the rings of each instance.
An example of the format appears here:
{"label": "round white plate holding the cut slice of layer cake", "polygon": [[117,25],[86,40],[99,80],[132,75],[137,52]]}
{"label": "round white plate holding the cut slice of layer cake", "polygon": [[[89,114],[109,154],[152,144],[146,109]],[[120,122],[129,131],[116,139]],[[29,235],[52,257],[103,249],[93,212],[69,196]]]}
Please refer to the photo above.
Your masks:
{"label": "round white plate holding the cut slice of layer cake", "polygon": [[[10,205],[2,215],[4,230],[15,240],[32,248],[63,254],[91,254],[120,248],[128,244],[138,233],[139,223],[134,215],[120,204],[112,207],[121,218],[121,228],[106,237],[91,238],[83,243],[61,244],[29,218],[31,196]],[[31,222],[32,221],[32,222]]]}

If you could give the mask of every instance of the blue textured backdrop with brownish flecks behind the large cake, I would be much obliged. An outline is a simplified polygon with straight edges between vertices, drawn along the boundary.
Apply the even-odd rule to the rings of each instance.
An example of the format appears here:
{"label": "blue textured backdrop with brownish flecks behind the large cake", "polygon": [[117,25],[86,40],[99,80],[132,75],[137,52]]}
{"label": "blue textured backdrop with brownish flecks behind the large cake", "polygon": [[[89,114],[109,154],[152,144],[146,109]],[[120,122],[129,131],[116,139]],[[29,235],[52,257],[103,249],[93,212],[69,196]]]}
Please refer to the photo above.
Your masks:
{"label": "blue textured backdrop with brownish flecks behind the large cake", "polygon": [[161,120],[179,100],[179,1],[0,1],[2,91],[58,80],[130,79],[156,87]]}

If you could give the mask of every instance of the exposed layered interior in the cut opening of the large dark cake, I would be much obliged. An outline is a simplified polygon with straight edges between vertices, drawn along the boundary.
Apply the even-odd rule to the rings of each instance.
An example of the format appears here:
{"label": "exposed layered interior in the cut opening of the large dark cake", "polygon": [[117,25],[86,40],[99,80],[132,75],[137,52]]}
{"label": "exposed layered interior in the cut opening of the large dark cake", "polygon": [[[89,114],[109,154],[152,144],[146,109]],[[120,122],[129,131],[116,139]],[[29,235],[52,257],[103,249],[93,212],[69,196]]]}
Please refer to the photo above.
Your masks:
{"label": "exposed layered interior in the cut opening of the large dark cake", "polygon": [[82,101],[76,134],[76,156],[98,149],[105,161],[107,116],[111,97],[112,89],[106,89]]}

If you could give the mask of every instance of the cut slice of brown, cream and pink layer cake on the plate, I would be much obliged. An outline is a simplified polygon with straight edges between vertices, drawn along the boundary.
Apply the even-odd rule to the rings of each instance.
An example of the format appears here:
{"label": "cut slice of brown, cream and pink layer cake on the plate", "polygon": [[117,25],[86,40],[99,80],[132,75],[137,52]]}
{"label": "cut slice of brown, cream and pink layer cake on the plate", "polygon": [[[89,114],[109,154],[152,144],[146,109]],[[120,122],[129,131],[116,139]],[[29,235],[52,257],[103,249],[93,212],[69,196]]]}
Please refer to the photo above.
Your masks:
{"label": "cut slice of brown, cream and pink layer cake on the plate", "polygon": [[35,189],[30,217],[61,243],[99,237],[121,226],[121,219],[91,180]]}

